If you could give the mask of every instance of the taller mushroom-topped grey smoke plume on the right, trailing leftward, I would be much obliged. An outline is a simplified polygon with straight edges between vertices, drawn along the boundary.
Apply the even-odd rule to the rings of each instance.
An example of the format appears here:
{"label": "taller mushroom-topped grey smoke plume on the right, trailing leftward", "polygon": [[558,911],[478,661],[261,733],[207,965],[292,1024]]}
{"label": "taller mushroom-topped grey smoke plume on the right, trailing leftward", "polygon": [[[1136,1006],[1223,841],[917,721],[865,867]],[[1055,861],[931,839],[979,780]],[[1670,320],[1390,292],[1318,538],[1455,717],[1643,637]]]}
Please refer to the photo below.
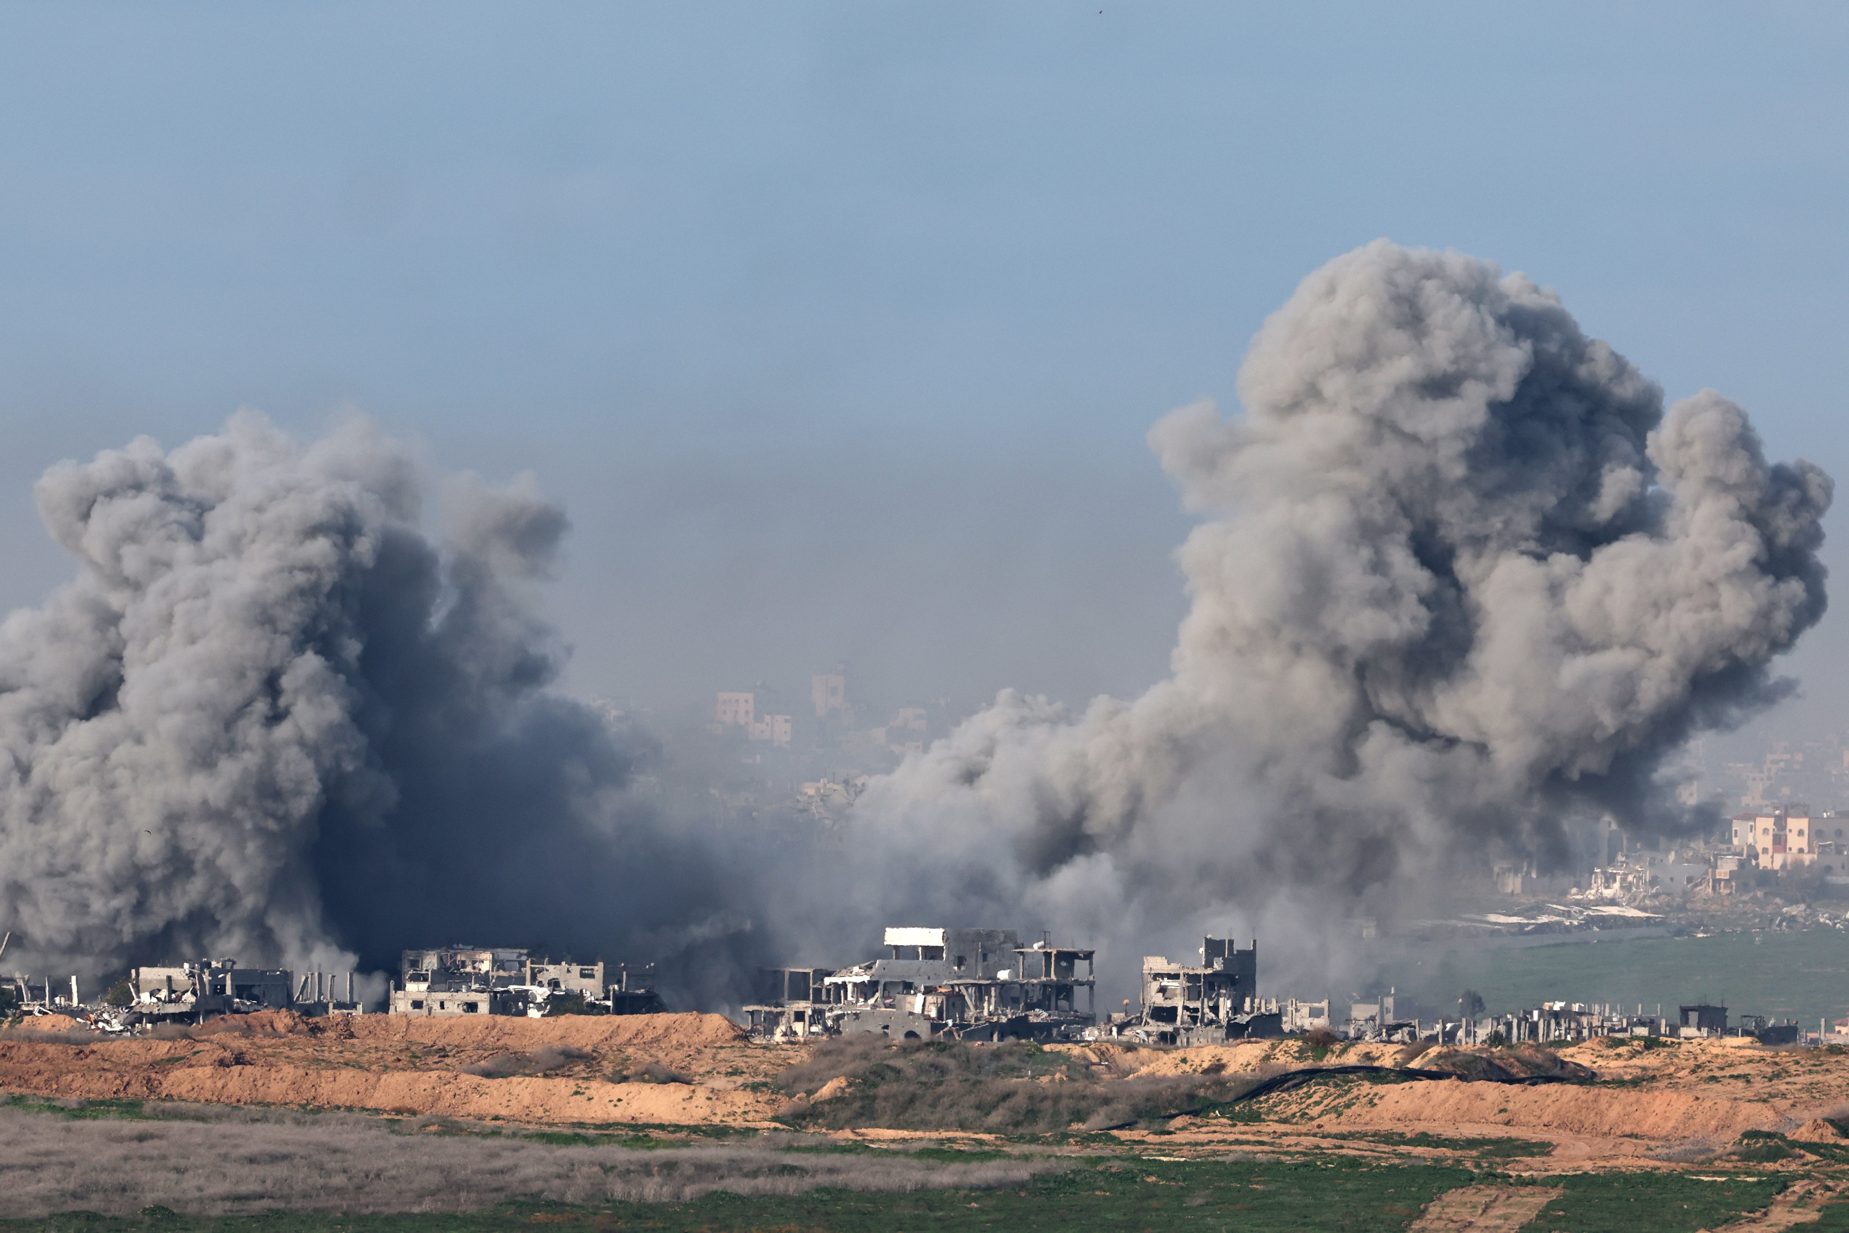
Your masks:
{"label": "taller mushroom-topped grey smoke plume on the right, trailing leftward", "polygon": [[873,784],[888,904],[1095,939],[1341,919],[1559,860],[1577,819],[1705,821],[1653,771],[1779,697],[1827,475],[1720,394],[1664,414],[1527,277],[1385,240],[1304,281],[1239,394],[1150,433],[1204,514],[1172,675],[1084,714],[1004,691]]}

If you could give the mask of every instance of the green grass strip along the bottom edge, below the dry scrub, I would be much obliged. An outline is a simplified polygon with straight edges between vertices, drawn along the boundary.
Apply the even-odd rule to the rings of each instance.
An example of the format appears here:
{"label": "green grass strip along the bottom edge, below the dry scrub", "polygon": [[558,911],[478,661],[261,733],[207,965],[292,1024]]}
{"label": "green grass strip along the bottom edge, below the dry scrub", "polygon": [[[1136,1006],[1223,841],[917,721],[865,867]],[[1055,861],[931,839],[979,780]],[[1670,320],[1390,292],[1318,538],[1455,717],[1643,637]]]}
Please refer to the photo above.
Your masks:
{"label": "green grass strip along the bottom edge, below the dry scrub", "polygon": [[[969,1229],[1341,1229],[1396,1231],[1439,1194],[1472,1183],[1522,1185],[1496,1174],[1435,1165],[1324,1161],[1152,1161],[1085,1159],[1021,1190],[924,1190],[863,1194],[814,1190],[799,1196],[708,1194],[690,1203],[501,1203],[473,1215],[185,1218],[166,1211],[104,1218],[65,1215],[0,1222],[0,1229],[115,1233],[129,1229],[263,1231],[342,1229],[351,1233],[488,1233],[494,1229],[660,1229],[666,1233],[950,1233]],[[1781,1179],[1729,1176],[1703,1181],[1681,1174],[1585,1174],[1548,1179],[1564,1187],[1533,1229],[1570,1233],[1696,1233],[1771,1202]],[[1823,1227],[1845,1227],[1825,1215]]]}

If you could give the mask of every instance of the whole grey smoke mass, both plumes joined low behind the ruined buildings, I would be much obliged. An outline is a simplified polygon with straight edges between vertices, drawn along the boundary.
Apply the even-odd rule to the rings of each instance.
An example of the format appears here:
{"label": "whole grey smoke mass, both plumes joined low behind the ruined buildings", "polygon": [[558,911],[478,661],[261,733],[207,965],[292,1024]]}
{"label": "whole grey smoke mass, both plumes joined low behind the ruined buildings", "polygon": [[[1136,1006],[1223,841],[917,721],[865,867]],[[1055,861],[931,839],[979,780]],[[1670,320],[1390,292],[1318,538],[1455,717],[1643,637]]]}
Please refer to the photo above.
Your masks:
{"label": "whole grey smoke mass, both plumes joined low behind the ruined buildings", "polygon": [[250,414],[52,468],[83,571],[0,627],[15,961],[1228,935],[1561,854],[1575,819],[1714,821],[1653,773],[1779,695],[1829,477],[1768,464],[1718,394],[1664,412],[1524,275],[1387,242],[1304,281],[1239,392],[1150,433],[1204,518],[1172,675],[1080,714],[1004,691],[814,852],[753,852],[704,786],[704,813],[638,806],[649,745],[547,690],[566,519],[529,484],[451,484],[431,536],[403,447]]}

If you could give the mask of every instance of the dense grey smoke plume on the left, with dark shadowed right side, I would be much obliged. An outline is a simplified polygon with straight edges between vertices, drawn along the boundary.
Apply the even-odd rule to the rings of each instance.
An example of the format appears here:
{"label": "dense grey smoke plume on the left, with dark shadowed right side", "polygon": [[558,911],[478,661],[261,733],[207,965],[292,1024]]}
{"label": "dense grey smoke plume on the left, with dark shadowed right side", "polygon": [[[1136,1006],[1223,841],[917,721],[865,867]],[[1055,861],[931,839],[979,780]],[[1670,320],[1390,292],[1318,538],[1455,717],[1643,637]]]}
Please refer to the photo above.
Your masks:
{"label": "dense grey smoke plume on the left, with dark shadowed right side", "polygon": [[647,745],[545,688],[566,519],[531,482],[449,482],[433,540],[370,423],[239,414],[37,499],[83,569],[0,627],[9,967],[584,954],[736,902],[625,800]]}

